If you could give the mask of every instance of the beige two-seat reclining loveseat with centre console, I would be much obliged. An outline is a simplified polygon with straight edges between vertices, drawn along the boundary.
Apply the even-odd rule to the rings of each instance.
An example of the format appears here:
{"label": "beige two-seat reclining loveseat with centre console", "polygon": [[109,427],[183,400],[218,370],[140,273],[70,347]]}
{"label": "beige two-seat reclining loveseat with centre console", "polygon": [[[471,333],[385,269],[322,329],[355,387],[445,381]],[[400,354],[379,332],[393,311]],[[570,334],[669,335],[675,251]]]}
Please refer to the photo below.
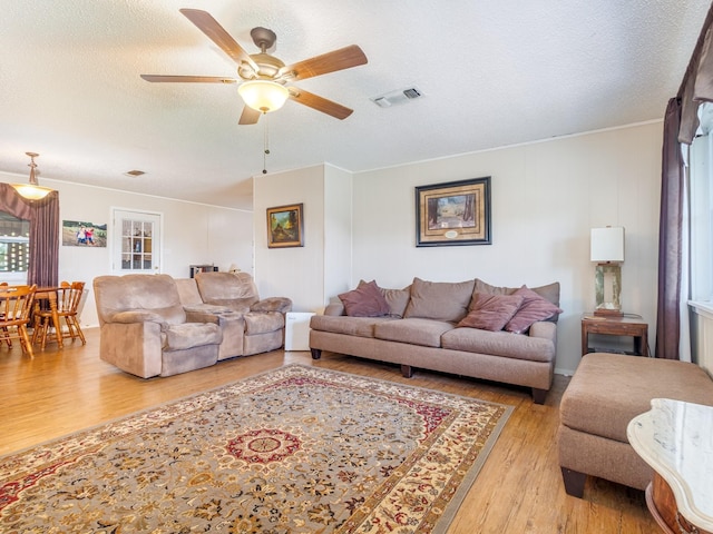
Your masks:
{"label": "beige two-seat reclining loveseat with centre console", "polygon": [[143,378],[280,348],[289,298],[261,300],[248,274],[99,276],[99,356]]}

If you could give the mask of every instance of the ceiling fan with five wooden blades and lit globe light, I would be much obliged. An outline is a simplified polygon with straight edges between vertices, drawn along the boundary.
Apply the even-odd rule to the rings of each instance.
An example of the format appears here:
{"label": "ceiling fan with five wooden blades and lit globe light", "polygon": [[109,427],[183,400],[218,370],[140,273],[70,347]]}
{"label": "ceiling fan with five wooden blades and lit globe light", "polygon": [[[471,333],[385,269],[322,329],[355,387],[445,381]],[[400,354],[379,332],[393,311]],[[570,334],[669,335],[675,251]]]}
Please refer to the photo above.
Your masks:
{"label": "ceiling fan with five wooden blades and lit globe light", "polygon": [[241,125],[256,123],[262,113],[280,109],[287,98],[340,120],[352,113],[352,109],[287,83],[367,63],[367,56],[356,44],[285,65],[279,58],[267,53],[277,39],[272,30],[253,28],[250,33],[255,46],[260,48],[260,53],[247,53],[206,11],[198,9],[179,11],[237,63],[238,78],[141,75],[146,81],[240,83],[237,90],[245,101],[240,119]]}

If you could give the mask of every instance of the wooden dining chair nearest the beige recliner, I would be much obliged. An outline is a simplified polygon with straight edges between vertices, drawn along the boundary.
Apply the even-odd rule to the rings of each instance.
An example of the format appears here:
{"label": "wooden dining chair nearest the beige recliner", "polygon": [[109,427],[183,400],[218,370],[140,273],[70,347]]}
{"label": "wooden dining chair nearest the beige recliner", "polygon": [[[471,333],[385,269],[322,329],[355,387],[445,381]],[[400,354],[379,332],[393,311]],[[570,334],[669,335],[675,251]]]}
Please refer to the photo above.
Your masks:
{"label": "wooden dining chair nearest the beige recliner", "polygon": [[[57,288],[57,316],[59,324],[52,324],[52,310],[39,309],[35,307],[35,332],[32,333],[32,343],[40,340],[40,348],[45,348],[47,342],[56,342],[61,339],[81,340],[82,345],[87,344],[85,335],[79,326],[77,310],[81,296],[85,290],[84,281],[62,281]],[[67,329],[62,326],[62,319]],[[53,332],[52,332],[53,330]]]}

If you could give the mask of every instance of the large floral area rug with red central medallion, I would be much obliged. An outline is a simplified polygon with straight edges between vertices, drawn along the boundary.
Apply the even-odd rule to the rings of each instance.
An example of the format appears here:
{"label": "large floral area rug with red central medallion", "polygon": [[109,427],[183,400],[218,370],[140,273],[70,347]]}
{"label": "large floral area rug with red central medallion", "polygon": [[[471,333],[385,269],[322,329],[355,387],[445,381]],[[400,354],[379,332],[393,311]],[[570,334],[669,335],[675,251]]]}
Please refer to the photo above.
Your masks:
{"label": "large floral area rug with red central medallion", "polygon": [[291,365],[0,457],[0,532],[445,532],[511,409]]}

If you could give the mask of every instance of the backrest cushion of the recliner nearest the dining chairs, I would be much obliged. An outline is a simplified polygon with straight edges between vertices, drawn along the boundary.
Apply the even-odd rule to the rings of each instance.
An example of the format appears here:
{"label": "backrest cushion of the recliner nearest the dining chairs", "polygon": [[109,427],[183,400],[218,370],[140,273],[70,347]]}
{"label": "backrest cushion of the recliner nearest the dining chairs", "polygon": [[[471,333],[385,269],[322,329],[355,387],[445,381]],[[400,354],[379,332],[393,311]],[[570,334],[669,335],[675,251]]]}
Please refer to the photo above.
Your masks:
{"label": "backrest cushion of the recliner nearest the dining chairs", "polygon": [[94,279],[99,323],[121,312],[146,310],[172,325],[186,322],[176,283],[169,275],[98,276]]}

